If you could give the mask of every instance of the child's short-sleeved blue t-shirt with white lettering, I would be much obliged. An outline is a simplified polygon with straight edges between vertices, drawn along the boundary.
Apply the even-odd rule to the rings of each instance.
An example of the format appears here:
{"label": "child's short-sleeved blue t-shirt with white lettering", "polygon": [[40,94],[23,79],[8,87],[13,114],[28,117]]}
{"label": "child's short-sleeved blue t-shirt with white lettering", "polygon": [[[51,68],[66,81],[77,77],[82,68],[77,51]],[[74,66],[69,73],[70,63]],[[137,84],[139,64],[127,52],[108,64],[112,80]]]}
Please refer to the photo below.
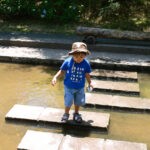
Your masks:
{"label": "child's short-sleeved blue t-shirt with white lettering", "polygon": [[66,72],[64,84],[73,89],[83,88],[85,74],[91,72],[91,66],[86,59],[83,59],[81,63],[75,63],[72,57],[67,58],[60,69]]}

